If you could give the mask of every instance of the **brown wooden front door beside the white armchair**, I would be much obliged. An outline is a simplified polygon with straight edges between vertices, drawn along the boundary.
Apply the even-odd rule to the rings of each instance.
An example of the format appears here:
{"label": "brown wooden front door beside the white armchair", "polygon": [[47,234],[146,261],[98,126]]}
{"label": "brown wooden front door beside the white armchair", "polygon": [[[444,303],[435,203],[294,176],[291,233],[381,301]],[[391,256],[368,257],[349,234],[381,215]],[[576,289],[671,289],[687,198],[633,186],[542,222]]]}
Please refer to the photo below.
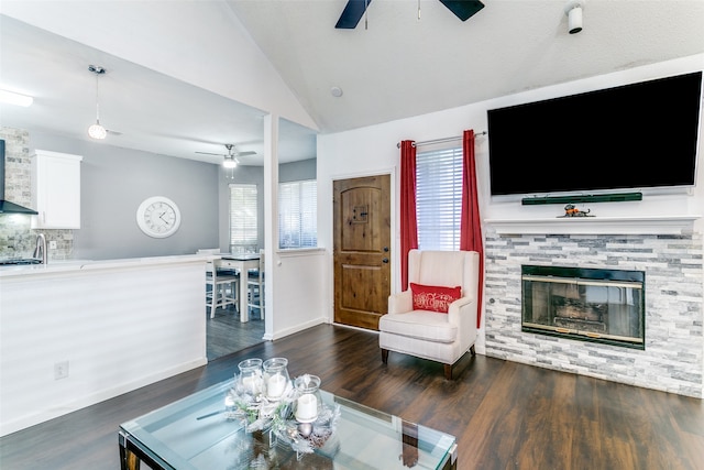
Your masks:
{"label": "brown wooden front door beside the white armchair", "polygon": [[391,176],[334,186],[334,321],[378,330],[391,294]]}

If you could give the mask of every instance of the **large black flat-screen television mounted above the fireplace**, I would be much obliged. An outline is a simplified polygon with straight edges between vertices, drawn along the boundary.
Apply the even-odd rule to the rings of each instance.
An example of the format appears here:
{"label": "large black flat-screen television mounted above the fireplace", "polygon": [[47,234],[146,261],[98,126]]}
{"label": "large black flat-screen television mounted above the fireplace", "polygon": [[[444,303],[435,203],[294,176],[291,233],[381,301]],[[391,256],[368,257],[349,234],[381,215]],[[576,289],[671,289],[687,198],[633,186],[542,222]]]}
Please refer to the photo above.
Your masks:
{"label": "large black flat-screen television mounted above the fireplace", "polygon": [[692,186],[702,73],[487,111],[492,195]]}

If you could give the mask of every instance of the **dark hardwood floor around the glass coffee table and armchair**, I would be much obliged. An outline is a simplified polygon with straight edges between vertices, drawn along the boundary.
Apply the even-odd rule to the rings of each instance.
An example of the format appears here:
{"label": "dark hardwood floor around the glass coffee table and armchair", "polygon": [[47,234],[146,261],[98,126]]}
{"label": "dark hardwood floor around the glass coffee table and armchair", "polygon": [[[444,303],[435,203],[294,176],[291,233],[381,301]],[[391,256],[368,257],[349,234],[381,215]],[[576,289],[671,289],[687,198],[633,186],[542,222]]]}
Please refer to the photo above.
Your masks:
{"label": "dark hardwood floor around the glass coffee table and armchair", "polygon": [[285,357],[337,395],[452,434],[459,469],[704,469],[703,401],[466,354],[439,363],[320,325],[0,439],[0,467],[118,469],[120,423],[229,380],[239,361]]}

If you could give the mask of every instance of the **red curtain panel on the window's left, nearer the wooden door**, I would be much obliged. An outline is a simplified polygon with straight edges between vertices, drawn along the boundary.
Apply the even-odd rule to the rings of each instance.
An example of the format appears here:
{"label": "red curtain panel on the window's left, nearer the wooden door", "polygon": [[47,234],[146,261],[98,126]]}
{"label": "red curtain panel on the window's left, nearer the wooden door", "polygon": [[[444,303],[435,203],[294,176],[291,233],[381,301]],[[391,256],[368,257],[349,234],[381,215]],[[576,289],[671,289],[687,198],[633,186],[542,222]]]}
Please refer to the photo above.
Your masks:
{"label": "red curtain panel on the window's left, nearer the wooden door", "polygon": [[418,248],[416,222],[416,146],[400,143],[400,286],[408,288],[408,252]]}

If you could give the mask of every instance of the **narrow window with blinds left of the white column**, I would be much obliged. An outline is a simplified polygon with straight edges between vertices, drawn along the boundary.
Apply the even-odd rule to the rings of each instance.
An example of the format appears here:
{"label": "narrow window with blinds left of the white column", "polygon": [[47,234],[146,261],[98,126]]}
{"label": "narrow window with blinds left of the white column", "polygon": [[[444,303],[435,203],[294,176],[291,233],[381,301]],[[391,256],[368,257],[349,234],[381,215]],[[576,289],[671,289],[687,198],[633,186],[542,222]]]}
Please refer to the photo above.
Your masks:
{"label": "narrow window with blinds left of the white column", "polygon": [[256,251],[256,185],[230,185],[230,250]]}

